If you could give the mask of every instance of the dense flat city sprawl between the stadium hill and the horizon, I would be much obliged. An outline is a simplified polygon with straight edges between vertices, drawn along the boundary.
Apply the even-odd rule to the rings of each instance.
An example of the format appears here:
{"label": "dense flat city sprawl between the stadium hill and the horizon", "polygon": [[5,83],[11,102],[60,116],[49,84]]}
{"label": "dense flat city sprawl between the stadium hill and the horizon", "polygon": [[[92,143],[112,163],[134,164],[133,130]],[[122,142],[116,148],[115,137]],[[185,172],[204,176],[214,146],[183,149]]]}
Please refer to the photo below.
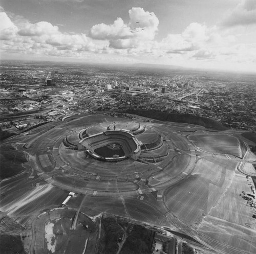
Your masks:
{"label": "dense flat city sprawl between the stadium hill and the horizon", "polygon": [[8,133],[84,112],[154,109],[256,130],[255,75],[157,65],[1,63],[1,128]]}

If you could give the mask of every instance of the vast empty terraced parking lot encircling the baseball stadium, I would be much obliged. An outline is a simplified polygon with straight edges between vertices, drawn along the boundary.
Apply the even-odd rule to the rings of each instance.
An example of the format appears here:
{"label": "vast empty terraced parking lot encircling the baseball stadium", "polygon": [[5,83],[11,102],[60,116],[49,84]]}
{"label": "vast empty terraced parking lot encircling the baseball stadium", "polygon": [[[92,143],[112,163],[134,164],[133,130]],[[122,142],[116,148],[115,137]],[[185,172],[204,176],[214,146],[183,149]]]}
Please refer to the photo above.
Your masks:
{"label": "vast empty terraced parking lot encircling the baseball stadium", "polygon": [[[77,150],[80,132],[90,136],[114,127],[134,133],[141,149],[137,159],[105,162],[86,149]],[[50,211],[60,209],[74,192],[62,207],[72,210],[73,218],[76,211],[91,217],[106,212],[170,227],[218,253],[255,253],[255,201],[248,194],[253,195],[250,175],[256,156],[233,133],[101,115],[48,123],[7,141],[18,143],[15,147],[28,155],[28,163],[23,173],[1,182],[1,211],[23,226],[34,221],[35,229],[53,223],[68,236],[71,225],[65,216],[71,215]],[[36,237],[30,248],[38,254],[38,246],[47,241],[32,233]],[[83,253],[82,242],[83,247],[65,248]]]}

